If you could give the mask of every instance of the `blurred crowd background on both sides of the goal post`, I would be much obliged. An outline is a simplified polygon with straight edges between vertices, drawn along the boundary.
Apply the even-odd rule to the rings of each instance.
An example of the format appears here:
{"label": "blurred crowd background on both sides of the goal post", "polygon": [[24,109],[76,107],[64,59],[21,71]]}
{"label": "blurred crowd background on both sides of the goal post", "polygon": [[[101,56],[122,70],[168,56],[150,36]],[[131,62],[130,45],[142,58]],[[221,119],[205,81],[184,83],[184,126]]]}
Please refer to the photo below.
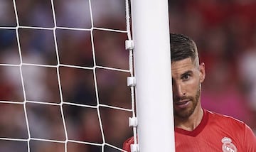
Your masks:
{"label": "blurred crowd background on both sides of the goal post", "polygon": [[[31,152],[63,152],[65,141],[68,151],[119,151],[132,113],[104,105],[131,109],[127,33],[90,29],[125,31],[125,1],[92,0],[92,18],[87,0],[15,2],[18,18],[13,1],[0,0],[0,138],[24,141],[0,140],[0,151],[29,143]],[[250,0],[169,0],[170,31],[193,38],[206,63],[203,107],[254,131],[255,9]]]}

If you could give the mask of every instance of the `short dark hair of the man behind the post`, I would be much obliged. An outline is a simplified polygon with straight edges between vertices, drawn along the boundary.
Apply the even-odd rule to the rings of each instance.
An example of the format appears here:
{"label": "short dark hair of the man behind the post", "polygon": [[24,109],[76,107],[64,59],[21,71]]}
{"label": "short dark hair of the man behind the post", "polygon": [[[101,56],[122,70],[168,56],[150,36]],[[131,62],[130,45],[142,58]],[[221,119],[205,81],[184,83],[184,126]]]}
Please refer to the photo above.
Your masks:
{"label": "short dark hair of the man behind the post", "polygon": [[186,58],[191,58],[193,62],[199,64],[198,50],[196,48],[196,43],[183,34],[170,34],[171,43],[171,63],[183,60]]}

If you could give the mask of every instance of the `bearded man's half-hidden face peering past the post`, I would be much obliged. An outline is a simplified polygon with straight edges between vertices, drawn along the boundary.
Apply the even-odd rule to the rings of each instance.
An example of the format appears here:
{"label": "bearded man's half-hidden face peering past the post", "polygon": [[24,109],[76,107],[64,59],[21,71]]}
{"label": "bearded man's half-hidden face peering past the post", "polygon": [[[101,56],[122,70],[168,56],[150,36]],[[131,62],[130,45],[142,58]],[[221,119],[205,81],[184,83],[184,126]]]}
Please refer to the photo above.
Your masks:
{"label": "bearded man's half-hidden face peering past the post", "polygon": [[204,64],[196,65],[191,58],[171,63],[174,95],[174,116],[188,119],[200,102],[201,82],[205,77]]}

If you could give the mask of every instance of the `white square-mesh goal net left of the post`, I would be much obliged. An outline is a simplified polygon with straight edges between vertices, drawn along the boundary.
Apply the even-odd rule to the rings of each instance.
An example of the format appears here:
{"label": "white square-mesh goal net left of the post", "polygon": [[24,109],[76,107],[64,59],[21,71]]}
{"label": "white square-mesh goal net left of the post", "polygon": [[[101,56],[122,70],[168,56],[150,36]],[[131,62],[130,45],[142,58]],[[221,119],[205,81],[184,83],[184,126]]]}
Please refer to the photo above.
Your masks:
{"label": "white square-mesh goal net left of the post", "polygon": [[0,1],[0,151],[122,151],[134,115],[128,6]]}

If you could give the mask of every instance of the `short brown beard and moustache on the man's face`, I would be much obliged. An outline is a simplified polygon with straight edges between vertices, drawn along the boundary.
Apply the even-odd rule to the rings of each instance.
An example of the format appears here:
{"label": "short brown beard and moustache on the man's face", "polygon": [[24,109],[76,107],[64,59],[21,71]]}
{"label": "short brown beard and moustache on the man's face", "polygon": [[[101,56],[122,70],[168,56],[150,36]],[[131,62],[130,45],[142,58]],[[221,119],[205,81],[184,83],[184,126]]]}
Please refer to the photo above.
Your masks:
{"label": "short brown beard and moustache on the man's face", "polygon": [[183,111],[176,111],[176,109],[174,109],[174,116],[180,119],[188,119],[188,117],[191,116],[191,114],[193,114],[193,112],[196,109],[196,106],[199,102],[200,94],[201,94],[201,87],[199,86],[195,97],[191,97],[191,96],[182,97],[182,99],[191,100],[192,107],[189,107],[188,109],[184,109]]}

